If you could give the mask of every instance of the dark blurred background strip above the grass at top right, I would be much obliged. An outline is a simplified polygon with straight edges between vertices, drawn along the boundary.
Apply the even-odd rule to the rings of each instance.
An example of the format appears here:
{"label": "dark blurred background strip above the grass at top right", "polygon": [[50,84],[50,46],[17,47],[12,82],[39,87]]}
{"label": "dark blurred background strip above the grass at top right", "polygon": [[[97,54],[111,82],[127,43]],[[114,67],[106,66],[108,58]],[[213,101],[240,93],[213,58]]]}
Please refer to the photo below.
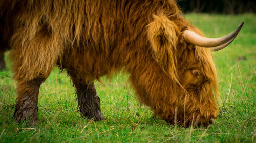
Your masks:
{"label": "dark blurred background strip above the grass at top right", "polygon": [[255,0],[178,0],[177,3],[184,13],[256,13]]}

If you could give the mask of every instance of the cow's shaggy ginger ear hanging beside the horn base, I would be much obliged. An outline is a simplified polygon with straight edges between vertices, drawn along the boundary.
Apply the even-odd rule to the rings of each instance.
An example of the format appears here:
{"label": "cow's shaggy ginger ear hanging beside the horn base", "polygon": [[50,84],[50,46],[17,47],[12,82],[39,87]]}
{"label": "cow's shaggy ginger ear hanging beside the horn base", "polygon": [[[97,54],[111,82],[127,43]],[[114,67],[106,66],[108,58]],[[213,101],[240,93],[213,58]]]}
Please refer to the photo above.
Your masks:
{"label": "cow's shaggy ginger ear hanging beside the horn base", "polygon": [[[175,51],[178,42],[178,27],[164,14],[153,15],[154,20],[147,25],[148,40],[152,56],[164,65],[175,64]],[[169,63],[171,62],[171,63]]]}

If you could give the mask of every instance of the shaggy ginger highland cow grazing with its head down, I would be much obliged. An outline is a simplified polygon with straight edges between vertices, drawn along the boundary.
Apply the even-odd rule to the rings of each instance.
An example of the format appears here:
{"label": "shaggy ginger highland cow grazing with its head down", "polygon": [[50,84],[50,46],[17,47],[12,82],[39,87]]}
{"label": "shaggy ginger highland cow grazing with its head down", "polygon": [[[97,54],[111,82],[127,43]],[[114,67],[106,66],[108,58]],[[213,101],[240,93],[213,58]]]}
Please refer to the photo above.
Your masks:
{"label": "shaggy ginger highland cow grazing with its head down", "polygon": [[17,80],[13,116],[35,125],[39,88],[55,65],[67,71],[77,110],[88,119],[103,119],[94,81],[124,69],[140,103],[161,119],[212,124],[219,97],[210,52],[230,44],[243,25],[202,37],[174,0],[2,0],[0,8],[1,51],[11,49]]}

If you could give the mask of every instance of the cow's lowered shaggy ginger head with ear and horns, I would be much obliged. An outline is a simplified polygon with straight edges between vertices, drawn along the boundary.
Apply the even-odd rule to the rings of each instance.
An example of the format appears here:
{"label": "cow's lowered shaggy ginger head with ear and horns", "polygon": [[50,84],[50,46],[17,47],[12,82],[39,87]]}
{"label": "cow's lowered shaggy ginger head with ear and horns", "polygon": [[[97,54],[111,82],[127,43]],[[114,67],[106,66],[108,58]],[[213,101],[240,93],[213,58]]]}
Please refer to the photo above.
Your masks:
{"label": "cow's lowered shaggy ginger head with ear and horns", "polygon": [[147,26],[153,64],[132,77],[139,100],[170,123],[212,124],[219,97],[210,52],[229,45],[242,25],[224,37],[205,38],[190,25],[182,29],[164,14],[155,15]]}

